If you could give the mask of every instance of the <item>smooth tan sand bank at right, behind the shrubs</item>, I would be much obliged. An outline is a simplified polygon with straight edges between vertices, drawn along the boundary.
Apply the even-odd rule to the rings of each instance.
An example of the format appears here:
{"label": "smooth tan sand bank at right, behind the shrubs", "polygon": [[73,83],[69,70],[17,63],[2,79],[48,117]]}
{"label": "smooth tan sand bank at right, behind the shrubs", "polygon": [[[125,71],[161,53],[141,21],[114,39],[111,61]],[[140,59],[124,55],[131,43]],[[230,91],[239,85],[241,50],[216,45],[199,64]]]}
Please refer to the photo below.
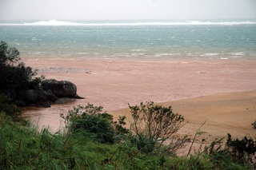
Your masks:
{"label": "smooth tan sand bank at right, behind the shrubs", "polygon": [[[171,106],[173,113],[185,118],[184,126],[177,132],[178,136],[187,135],[193,139],[196,132],[201,132],[195,140],[197,144],[210,144],[228,133],[240,139],[244,136],[256,138],[256,129],[251,125],[256,121],[256,90],[216,93],[155,105]],[[129,108],[110,113],[114,118],[126,116],[127,120],[132,119]]]}

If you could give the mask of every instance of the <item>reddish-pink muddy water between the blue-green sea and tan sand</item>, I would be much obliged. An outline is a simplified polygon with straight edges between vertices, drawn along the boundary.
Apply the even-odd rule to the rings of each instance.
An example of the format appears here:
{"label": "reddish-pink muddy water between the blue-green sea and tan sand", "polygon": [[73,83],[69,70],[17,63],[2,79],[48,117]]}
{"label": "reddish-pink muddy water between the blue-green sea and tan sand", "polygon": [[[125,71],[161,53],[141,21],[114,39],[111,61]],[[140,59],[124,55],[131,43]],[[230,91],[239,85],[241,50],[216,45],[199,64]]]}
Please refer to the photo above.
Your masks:
{"label": "reddish-pink muddy water between the blue-green sea and tan sand", "polygon": [[[35,124],[39,127],[50,125],[53,132],[63,125],[59,113],[67,113],[75,105],[90,102],[114,113],[128,108],[128,102],[130,105],[142,101],[175,103],[220,93],[246,93],[255,90],[256,85],[256,60],[133,61],[25,57],[22,61],[26,66],[38,69],[38,75],[45,75],[46,79],[73,82],[77,85],[78,95],[86,97],[66,105],[26,110],[25,116],[32,115],[34,121],[40,117]],[[175,111],[176,106],[173,105],[173,109]]]}

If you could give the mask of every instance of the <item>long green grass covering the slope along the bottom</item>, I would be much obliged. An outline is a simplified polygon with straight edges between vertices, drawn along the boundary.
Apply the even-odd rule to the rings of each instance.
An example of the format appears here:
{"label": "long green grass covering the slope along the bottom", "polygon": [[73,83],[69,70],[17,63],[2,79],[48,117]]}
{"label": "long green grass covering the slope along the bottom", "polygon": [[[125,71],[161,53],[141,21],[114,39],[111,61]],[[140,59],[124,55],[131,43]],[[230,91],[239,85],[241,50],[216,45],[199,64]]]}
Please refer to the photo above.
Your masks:
{"label": "long green grass covering the slope along the bottom", "polygon": [[253,169],[223,151],[189,157],[146,155],[128,142],[100,144],[0,114],[0,169]]}

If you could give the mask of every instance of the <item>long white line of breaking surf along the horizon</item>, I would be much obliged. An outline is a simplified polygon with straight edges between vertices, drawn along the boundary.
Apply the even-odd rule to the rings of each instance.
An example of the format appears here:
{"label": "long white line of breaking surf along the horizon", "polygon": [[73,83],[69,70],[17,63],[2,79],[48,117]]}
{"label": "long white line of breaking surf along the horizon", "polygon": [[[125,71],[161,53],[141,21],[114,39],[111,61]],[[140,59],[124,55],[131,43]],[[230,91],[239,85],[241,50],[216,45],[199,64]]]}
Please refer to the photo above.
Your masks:
{"label": "long white line of breaking surf along the horizon", "polygon": [[256,25],[256,22],[201,22],[201,21],[185,21],[185,22],[102,22],[102,23],[86,23],[86,22],[64,22],[57,20],[41,21],[41,22],[25,22],[25,23],[0,23],[0,26],[236,26],[236,25]]}

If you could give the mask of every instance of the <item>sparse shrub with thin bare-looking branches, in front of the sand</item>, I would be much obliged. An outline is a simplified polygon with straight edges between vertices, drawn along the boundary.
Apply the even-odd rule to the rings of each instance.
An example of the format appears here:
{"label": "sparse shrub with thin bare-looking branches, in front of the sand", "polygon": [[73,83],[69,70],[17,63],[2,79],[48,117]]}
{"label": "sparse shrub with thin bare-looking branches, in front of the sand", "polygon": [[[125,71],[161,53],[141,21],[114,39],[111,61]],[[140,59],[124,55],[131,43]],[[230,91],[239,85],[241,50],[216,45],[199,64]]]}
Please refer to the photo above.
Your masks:
{"label": "sparse shrub with thin bare-looking branches, in front of the sand", "polygon": [[141,103],[139,106],[129,105],[132,113],[134,133],[133,142],[143,152],[175,152],[188,139],[173,139],[175,132],[182,127],[184,118],[168,108],[154,105],[154,102]]}

